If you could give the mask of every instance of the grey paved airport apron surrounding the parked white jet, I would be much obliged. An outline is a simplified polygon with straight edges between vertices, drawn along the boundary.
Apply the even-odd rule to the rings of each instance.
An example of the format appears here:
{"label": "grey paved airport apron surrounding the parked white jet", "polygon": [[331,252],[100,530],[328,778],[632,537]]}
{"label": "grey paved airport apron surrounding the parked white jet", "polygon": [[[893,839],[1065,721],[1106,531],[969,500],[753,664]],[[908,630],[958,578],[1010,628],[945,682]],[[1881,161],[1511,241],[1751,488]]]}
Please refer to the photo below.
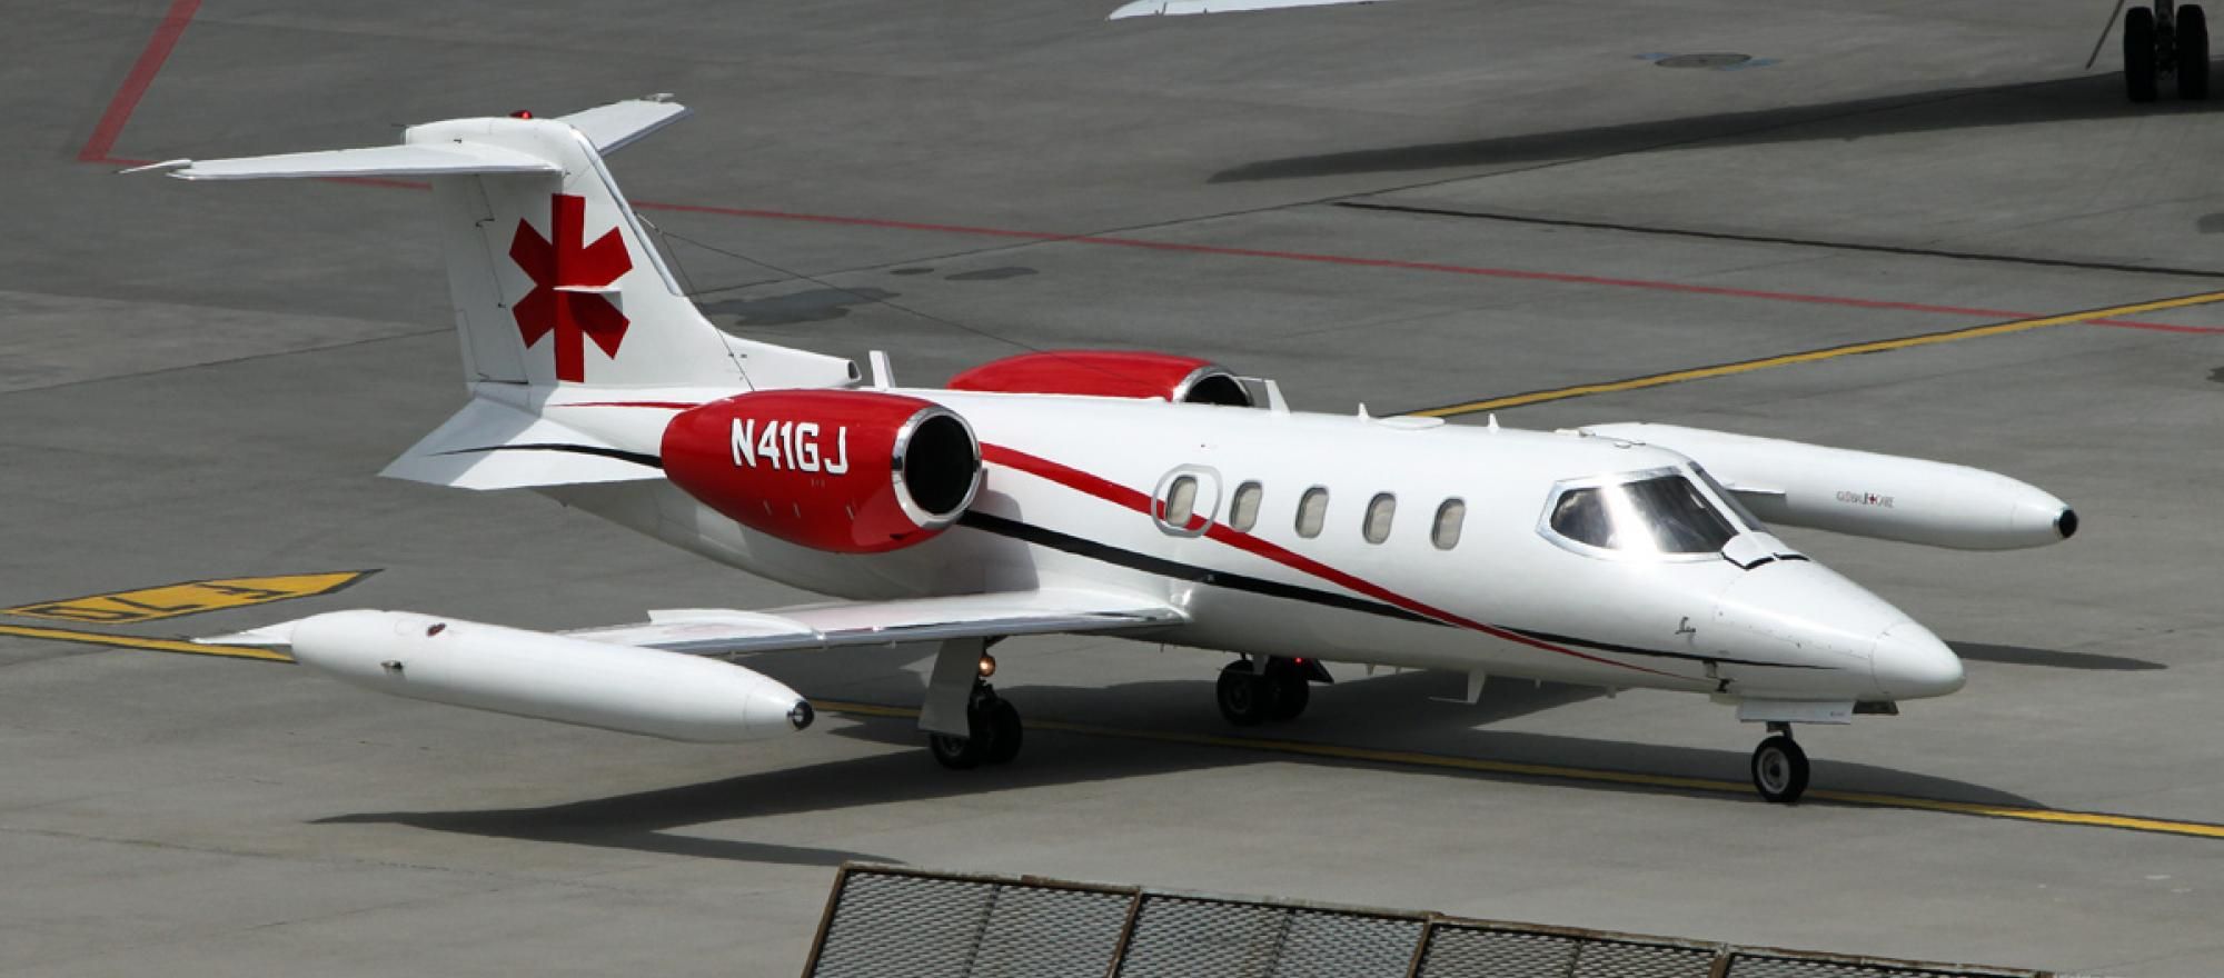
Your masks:
{"label": "grey paved airport apron surrounding the parked white jet", "polygon": [[[371,478],[460,402],[423,193],[111,160],[676,91],[696,118],[614,169],[721,325],[885,347],[914,382],[1016,345],[1197,351],[1334,411],[2224,289],[2224,124],[2128,107],[2113,51],[2079,76],[2095,4],[1112,7],[9,4],[0,605],[380,573],[142,625],[0,618],[0,971],[783,976],[847,858],[2224,971],[2224,838],[2200,834],[2224,822],[2224,305],[1501,413],[1948,458],[2075,502],[2086,529],[2026,553],[1786,533],[1968,660],[1959,696],[1801,734],[1817,789],[1902,802],[1761,805],[1757,731],[1668,693],[1503,682],[1461,707],[1430,700],[1454,676],[1337,669],[1303,720],[1245,734],[1317,749],[1230,745],[1221,658],[1114,640],[1003,647],[1030,718],[1105,729],[1036,727],[1016,765],[950,774],[901,718],[683,747],[24,636],[803,598],[538,498]],[[1646,58],[1701,51],[1773,62]],[[758,665],[894,707],[923,669]]]}

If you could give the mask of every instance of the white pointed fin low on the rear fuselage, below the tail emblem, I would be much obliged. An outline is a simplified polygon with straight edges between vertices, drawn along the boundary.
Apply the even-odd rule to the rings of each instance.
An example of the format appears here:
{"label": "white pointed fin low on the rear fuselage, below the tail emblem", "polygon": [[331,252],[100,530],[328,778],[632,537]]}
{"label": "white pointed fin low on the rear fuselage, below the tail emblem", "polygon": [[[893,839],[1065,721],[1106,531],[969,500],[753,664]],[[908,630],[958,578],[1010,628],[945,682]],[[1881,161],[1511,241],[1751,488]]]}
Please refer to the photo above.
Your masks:
{"label": "white pointed fin low on the rear fuselage, below the tail emblem", "polygon": [[565,425],[474,398],[380,476],[458,489],[527,489],[663,478],[656,456],[623,451]]}

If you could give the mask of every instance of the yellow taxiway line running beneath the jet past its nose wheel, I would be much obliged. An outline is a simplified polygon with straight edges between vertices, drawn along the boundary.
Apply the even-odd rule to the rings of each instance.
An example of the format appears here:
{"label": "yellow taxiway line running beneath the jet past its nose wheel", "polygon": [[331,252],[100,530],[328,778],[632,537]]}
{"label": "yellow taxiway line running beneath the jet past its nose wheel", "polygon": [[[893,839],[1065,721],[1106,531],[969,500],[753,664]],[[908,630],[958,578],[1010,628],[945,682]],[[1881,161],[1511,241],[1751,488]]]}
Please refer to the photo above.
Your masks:
{"label": "yellow taxiway line running beneath the jet past its nose wheel", "polygon": [[[812,705],[830,713],[885,716],[905,720],[919,718],[916,709],[883,707],[874,702],[812,700]],[[1063,720],[1027,720],[1027,727],[1041,731],[1081,734],[1096,738],[1148,740],[1148,742],[1185,745],[1185,747],[1223,747],[1239,751],[1292,754],[1303,758],[1328,758],[1328,760],[1361,760],[1370,765],[1508,774],[1519,778],[1555,778],[1555,780],[1579,780],[1592,785],[1664,787],[1677,791],[1706,791],[1706,794],[1732,794],[1732,796],[1753,794],[1753,785],[1746,785],[1741,780],[1684,778],[1672,774],[1610,771],[1599,767],[1523,765],[1515,760],[1461,758],[1452,754],[1390,751],[1377,747],[1319,745],[1308,740],[1174,734],[1174,731],[1132,729],[1132,727],[1099,727],[1088,722],[1063,722]],[[2106,811],[2062,811],[2062,809],[2037,809],[2022,805],[1950,802],[1942,798],[1890,796],[1870,791],[1830,791],[1830,789],[1813,789],[1806,794],[1806,800],[1861,805],[1877,809],[1910,809],[1910,811],[1944,811],[1955,816],[1979,816],[1979,818],[2010,818],[2022,822],[2084,825],[2095,829],[2153,831],[2164,836],[2224,838],[2224,825],[2115,816]]]}

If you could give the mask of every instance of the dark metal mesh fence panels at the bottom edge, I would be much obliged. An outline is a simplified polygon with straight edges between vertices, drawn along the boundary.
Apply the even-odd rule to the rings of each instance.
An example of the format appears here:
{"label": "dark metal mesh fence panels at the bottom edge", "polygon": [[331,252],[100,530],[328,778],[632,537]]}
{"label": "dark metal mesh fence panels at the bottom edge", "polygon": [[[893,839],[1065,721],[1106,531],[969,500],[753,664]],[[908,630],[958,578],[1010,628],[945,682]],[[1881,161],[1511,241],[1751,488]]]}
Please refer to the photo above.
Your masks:
{"label": "dark metal mesh fence panels at the bottom edge", "polygon": [[807,978],[2055,978],[1977,965],[1648,938],[845,865]]}

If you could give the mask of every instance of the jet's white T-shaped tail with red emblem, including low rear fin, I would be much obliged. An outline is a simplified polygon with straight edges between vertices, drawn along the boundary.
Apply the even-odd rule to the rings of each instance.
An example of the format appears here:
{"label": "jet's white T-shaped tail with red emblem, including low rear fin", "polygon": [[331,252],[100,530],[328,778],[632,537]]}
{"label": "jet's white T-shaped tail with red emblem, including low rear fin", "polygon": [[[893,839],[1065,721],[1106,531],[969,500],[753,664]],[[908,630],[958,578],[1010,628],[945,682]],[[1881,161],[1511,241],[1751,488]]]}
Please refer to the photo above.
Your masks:
{"label": "jet's white T-shaped tail with red emblem, including low rear fin", "polygon": [[[471,489],[607,482],[656,471],[623,465],[627,447],[609,445],[609,433],[565,429],[547,405],[580,400],[580,389],[732,391],[856,380],[850,360],[716,329],[643,236],[603,156],[683,116],[685,107],[652,96],[558,118],[425,122],[403,131],[396,147],[140,169],[180,180],[429,180],[474,398],[387,473]],[[492,456],[554,442],[600,456],[536,465]]]}

